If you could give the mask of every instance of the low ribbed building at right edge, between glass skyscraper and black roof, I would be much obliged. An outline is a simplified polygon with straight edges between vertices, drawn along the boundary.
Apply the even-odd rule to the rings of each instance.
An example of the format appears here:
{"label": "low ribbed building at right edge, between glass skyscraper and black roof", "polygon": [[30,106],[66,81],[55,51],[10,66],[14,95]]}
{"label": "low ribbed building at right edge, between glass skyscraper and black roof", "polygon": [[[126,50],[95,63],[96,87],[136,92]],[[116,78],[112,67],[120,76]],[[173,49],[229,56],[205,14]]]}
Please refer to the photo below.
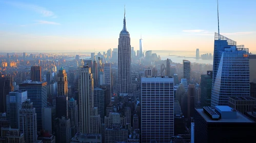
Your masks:
{"label": "low ribbed building at right edge, between glass skyscraper and black roof", "polygon": [[252,97],[229,97],[228,106],[245,114],[256,108],[256,99]]}

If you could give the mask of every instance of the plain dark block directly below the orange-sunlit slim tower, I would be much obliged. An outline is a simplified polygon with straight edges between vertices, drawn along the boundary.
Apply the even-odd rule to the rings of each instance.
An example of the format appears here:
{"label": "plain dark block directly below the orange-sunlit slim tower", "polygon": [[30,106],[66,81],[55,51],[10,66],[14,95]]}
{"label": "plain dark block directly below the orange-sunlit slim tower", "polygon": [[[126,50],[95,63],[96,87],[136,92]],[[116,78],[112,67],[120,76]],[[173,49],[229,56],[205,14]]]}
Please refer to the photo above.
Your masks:
{"label": "plain dark block directly below the orange-sunlit slim tower", "polygon": [[56,117],[68,117],[68,97],[56,96]]}

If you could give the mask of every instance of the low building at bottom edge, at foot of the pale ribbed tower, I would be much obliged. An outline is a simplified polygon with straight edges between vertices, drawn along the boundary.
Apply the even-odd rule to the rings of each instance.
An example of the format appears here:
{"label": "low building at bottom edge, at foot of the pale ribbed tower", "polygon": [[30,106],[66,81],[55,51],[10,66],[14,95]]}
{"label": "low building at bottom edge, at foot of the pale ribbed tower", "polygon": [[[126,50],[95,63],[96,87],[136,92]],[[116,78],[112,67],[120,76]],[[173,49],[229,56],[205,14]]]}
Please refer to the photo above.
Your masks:
{"label": "low building at bottom edge, at foot of the pale ribbed tower", "polygon": [[81,134],[80,132],[78,132],[70,141],[70,143],[84,143],[84,142],[102,143],[102,135],[101,134]]}

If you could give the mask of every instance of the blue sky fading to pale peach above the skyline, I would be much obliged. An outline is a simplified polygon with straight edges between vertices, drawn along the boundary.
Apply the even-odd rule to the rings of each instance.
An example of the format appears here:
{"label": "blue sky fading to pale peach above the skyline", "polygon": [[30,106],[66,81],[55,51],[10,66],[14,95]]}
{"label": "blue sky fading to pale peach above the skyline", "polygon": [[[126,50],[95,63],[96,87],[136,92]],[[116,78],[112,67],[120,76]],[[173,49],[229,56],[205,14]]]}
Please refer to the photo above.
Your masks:
{"label": "blue sky fading to pale peach above the skyline", "polygon": [[[124,5],[131,46],[212,52],[215,0],[2,1],[3,51],[106,51],[118,45]],[[256,52],[256,1],[220,0],[220,32]]]}

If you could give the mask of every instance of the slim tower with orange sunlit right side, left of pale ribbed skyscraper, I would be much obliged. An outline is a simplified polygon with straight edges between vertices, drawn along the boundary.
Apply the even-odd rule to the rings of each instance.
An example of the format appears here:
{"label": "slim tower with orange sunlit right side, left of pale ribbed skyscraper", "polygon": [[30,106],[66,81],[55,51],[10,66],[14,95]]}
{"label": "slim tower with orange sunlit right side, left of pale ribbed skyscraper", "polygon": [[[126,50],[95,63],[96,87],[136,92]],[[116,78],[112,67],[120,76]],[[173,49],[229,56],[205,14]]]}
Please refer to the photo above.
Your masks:
{"label": "slim tower with orange sunlit right side, left of pale ribbed skyscraper", "polygon": [[68,96],[68,80],[67,80],[67,73],[66,70],[61,67],[60,70],[58,70],[58,96]]}

